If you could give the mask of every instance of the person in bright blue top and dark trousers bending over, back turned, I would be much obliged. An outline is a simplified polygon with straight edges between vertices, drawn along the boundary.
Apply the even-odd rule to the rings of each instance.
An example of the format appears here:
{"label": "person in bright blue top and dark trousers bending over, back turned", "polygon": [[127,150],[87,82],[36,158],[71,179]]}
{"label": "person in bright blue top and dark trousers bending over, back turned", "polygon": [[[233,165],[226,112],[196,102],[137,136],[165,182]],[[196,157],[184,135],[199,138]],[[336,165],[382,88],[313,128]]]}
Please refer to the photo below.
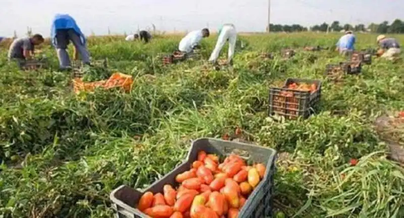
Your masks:
{"label": "person in bright blue top and dark trousers bending over, back turned", "polygon": [[77,60],[80,54],[84,64],[90,65],[90,55],[86,48],[86,39],[74,18],[68,14],[57,14],[52,21],[52,45],[55,47],[61,69],[70,69],[70,58],[66,49],[72,41],[73,59]]}

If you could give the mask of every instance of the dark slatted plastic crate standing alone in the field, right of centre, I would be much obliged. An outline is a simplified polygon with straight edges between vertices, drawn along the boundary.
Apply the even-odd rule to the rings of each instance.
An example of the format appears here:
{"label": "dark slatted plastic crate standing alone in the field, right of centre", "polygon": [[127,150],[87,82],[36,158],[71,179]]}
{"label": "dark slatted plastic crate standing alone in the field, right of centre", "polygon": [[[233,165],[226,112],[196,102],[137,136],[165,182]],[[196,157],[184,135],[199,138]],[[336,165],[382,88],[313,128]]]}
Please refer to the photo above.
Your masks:
{"label": "dark slatted plastic crate standing alone in the field, right of centre", "polygon": [[[316,84],[316,91],[298,91],[287,89],[287,85],[291,83],[308,83]],[[284,93],[291,94],[285,96]],[[269,92],[269,115],[274,114],[284,116],[289,119],[297,117],[308,118],[317,108],[321,97],[321,81],[311,79],[292,79],[285,81],[283,88],[272,87]]]}

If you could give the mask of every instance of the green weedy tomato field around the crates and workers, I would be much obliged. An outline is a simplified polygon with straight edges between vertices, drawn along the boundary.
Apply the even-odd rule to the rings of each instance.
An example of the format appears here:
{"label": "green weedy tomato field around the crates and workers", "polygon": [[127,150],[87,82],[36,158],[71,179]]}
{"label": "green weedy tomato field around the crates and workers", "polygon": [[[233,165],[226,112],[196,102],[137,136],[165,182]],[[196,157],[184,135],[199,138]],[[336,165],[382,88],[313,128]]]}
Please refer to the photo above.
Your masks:
{"label": "green weedy tomato field around the crates and workers", "polygon": [[[356,48],[376,48],[376,36],[357,34]],[[7,164],[0,172],[0,213],[112,217],[112,190],[123,184],[145,188],[185,158],[190,140],[231,137],[239,127],[243,140],[279,153],[278,217],[404,217],[404,169],[386,158],[373,127],[378,116],[404,110],[404,66],[374,59],[362,74],[335,83],[324,76],[325,66],[345,58],[297,49],[333,46],[339,37],[242,35],[247,47],[236,51],[234,69],[219,71],[203,61],[162,66],[154,59],[174,51],[181,36],[157,36],[149,45],[117,36],[90,38],[92,59],[108,58],[109,68],[132,75],[134,84],[130,93],[78,95],[71,74],[19,71],[7,63],[2,45],[0,158]],[[394,37],[404,42],[404,35]],[[205,59],[215,43],[216,36],[203,40]],[[292,59],[260,57],[289,47],[296,48]],[[40,50],[57,66],[49,45]],[[269,88],[287,78],[323,82],[316,115],[268,118]],[[356,166],[350,166],[352,158]]]}

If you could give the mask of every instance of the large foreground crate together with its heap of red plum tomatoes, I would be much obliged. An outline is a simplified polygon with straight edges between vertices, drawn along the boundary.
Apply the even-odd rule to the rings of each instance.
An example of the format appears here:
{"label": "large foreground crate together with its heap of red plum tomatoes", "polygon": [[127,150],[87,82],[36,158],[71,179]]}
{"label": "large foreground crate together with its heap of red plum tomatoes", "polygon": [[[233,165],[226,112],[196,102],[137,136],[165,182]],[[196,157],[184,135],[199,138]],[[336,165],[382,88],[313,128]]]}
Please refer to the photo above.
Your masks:
{"label": "large foreground crate together with its heap of red plum tomatoes", "polygon": [[212,138],[192,143],[187,159],[143,191],[110,198],[118,217],[272,217],[276,151]]}

